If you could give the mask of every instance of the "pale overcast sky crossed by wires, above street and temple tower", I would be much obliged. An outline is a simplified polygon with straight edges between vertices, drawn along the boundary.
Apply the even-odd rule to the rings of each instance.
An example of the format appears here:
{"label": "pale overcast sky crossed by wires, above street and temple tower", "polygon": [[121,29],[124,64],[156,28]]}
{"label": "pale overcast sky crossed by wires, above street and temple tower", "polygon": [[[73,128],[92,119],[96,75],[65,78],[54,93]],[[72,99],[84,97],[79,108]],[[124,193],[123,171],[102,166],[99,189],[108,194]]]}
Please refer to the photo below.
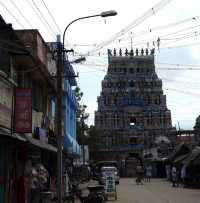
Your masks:
{"label": "pale overcast sky crossed by wires, above street and temple tower", "polygon": [[[14,2],[14,4],[13,4]],[[79,53],[88,53],[96,45],[121,33],[113,42],[97,52],[89,52],[83,65],[74,66],[78,71],[78,84],[84,92],[83,102],[90,113],[89,123],[93,123],[97,109],[97,96],[101,91],[101,80],[107,68],[107,48],[153,47],[153,41],[160,40],[156,48],[156,70],[163,79],[163,90],[167,95],[167,106],[172,113],[173,125],[179,122],[183,129],[192,129],[200,113],[200,10],[199,0],[173,0],[157,12],[149,12],[149,17],[141,20],[148,10],[161,2],[159,0],[0,0],[0,13],[15,29],[36,28],[45,41],[54,41],[56,34],[62,34],[72,20],[106,10],[116,10],[115,17],[92,18],[71,25],[66,33],[67,48]],[[167,2],[163,0],[162,3]],[[45,4],[44,4],[45,3]],[[37,8],[35,7],[37,6]],[[50,17],[46,7],[57,25]],[[38,10],[46,18],[38,17]],[[20,14],[20,12],[24,17]],[[138,25],[123,33],[128,25]],[[151,32],[150,32],[151,30]],[[120,32],[122,31],[122,32]],[[72,58],[72,57],[71,57]],[[173,65],[177,64],[177,65]],[[184,65],[184,66],[183,66]],[[189,66],[192,65],[192,66]],[[177,70],[179,68],[179,70]],[[189,70],[189,68],[191,68]],[[167,70],[171,69],[171,70]],[[173,69],[173,70],[172,70]],[[176,70],[174,70],[176,69]],[[196,70],[194,70],[196,69]]]}

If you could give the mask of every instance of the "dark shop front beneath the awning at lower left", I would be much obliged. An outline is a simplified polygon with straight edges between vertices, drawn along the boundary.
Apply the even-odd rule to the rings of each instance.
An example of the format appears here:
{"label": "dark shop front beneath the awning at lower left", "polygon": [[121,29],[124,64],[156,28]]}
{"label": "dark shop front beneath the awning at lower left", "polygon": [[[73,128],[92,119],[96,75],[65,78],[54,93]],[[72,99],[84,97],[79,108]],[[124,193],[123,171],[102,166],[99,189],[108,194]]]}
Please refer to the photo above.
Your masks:
{"label": "dark shop front beneath the awning at lower left", "polygon": [[55,196],[57,149],[25,135],[0,134],[0,203]]}

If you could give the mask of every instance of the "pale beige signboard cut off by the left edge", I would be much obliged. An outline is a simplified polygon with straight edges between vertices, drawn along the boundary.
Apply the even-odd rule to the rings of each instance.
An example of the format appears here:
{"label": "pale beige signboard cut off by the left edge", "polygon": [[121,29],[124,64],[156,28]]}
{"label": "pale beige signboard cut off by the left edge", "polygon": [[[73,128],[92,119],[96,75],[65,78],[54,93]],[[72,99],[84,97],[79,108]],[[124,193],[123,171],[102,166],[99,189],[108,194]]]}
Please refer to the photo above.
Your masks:
{"label": "pale beige signboard cut off by the left edge", "polygon": [[0,125],[11,128],[13,89],[3,80],[0,81]]}

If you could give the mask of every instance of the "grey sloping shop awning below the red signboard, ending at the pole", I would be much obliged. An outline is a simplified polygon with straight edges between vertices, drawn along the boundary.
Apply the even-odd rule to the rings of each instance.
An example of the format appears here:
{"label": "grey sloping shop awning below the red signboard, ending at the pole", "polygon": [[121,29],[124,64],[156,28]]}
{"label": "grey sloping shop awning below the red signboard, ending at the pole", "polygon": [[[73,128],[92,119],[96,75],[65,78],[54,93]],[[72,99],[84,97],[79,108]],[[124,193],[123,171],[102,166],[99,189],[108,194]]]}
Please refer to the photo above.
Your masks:
{"label": "grey sloping shop awning below the red signboard, ending at the pole", "polygon": [[41,149],[49,150],[49,151],[52,151],[52,152],[57,152],[57,148],[54,147],[53,145],[44,143],[41,140],[32,138],[29,135],[25,135],[25,136],[26,136],[27,141],[30,142],[32,145],[40,147]]}

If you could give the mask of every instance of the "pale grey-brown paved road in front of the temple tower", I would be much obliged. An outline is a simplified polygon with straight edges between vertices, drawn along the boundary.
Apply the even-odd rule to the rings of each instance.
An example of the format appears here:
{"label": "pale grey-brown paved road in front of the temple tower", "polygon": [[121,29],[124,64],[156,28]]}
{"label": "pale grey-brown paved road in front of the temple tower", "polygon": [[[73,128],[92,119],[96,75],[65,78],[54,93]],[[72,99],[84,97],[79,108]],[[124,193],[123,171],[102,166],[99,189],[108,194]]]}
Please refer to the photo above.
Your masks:
{"label": "pale grey-brown paved road in front of the temple tower", "polygon": [[162,179],[144,185],[136,185],[134,179],[121,179],[117,194],[116,203],[200,203],[200,190],[173,188]]}

